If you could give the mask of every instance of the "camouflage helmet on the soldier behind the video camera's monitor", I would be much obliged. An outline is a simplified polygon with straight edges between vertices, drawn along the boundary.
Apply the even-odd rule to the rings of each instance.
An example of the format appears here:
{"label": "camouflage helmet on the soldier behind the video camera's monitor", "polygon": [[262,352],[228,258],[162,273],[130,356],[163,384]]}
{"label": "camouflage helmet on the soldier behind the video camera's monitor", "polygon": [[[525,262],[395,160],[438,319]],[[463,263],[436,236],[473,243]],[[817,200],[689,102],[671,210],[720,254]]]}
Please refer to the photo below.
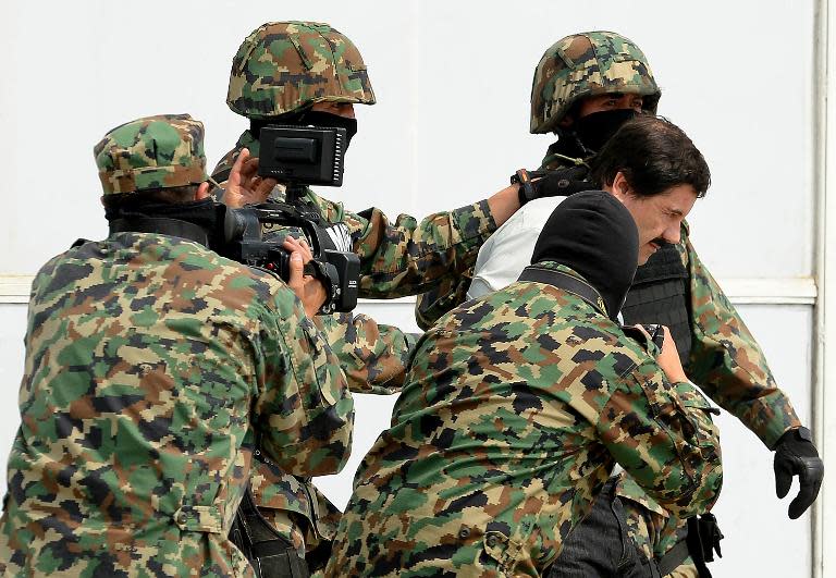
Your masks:
{"label": "camouflage helmet on the soldier behind the video camera's monitor", "polygon": [[366,64],[343,34],[317,22],[268,22],[232,61],[226,103],[267,119],[315,102],[374,103]]}

